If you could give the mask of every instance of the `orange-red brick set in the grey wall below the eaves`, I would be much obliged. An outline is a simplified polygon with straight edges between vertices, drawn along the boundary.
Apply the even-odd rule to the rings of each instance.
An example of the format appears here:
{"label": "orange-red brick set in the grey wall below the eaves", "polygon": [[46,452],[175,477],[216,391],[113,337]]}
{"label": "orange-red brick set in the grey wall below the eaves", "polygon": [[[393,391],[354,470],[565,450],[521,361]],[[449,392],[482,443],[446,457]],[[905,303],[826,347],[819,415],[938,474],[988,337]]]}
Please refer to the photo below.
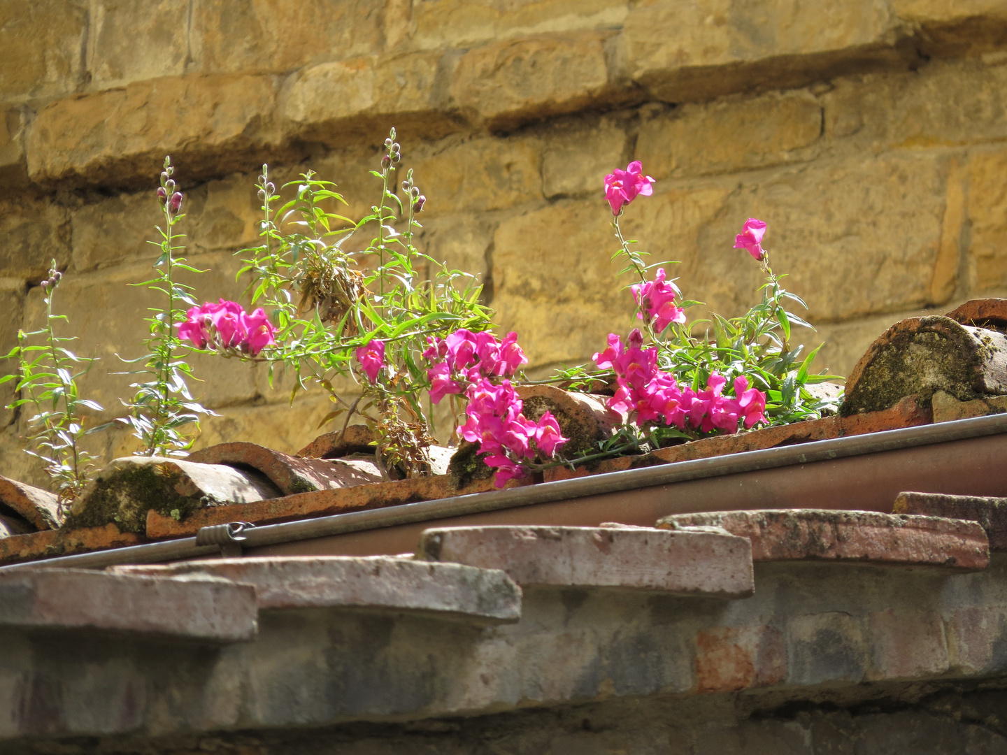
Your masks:
{"label": "orange-red brick set in the grey wall below the eaves", "polygon": [[786,677],[786,645],[771,626],[716,627],[696,635],[696,692],[737,692]]}

